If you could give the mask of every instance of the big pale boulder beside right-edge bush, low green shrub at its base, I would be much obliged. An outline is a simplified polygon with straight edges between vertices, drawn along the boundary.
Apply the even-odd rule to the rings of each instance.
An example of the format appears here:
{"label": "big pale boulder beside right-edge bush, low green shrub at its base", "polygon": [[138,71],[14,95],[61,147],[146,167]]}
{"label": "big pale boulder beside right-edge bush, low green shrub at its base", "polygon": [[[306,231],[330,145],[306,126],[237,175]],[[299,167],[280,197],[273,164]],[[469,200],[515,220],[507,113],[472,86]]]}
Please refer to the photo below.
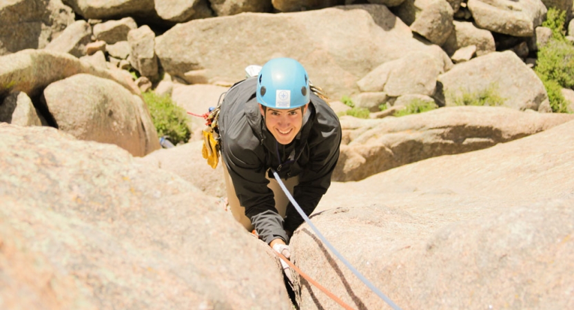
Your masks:
{"label": "big pale boulder beside right-edge bush, low green shrub at its base", "polygon": [[[504,106],[516,110],[540,110],[549,105],[548,94],[540,78],[512,51],[491,52],[458,63],[438,76],[445,105],[454,105],[464,94],[492,92],[504,100]],[[442,99],[441,99],[442,100]]]}

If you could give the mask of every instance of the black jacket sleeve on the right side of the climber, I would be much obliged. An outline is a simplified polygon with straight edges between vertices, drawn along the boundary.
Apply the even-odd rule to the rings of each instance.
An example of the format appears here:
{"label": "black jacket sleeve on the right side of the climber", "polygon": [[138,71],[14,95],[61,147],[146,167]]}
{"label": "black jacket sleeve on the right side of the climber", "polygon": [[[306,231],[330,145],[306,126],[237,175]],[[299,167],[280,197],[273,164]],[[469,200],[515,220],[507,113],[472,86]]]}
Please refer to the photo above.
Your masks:
{"label": "black jacket sleeve on the right side of the climber", "polygon": [[[315,210],[331,186],[331,175],[339,158],[341,135],[336,114],[328,113],[318,117],[309,136],[309,163],[299,175],[299,184],[294,188],[293,195],[307,216]],[[284,227],[287,231],[293,232],[304,221],[291,203],[285,215]]]}

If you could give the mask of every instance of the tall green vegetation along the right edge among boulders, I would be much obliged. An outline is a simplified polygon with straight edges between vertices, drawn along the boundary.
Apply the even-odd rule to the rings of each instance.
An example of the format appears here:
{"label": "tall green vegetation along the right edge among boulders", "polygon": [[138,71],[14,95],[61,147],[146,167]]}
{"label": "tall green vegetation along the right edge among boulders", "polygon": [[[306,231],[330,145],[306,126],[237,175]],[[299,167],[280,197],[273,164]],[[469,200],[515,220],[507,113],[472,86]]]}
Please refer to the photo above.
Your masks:
{"label": "tall green vegetation along the right edge among boulders", "polygon": [[564,37],[566,12],[549,8],[544,27],[552,30],[552,37],[538,50],[534,71],[544,83],[552,112],[568,112],[568,103],[562,96],[562,87],[574,87],[574,45]]}

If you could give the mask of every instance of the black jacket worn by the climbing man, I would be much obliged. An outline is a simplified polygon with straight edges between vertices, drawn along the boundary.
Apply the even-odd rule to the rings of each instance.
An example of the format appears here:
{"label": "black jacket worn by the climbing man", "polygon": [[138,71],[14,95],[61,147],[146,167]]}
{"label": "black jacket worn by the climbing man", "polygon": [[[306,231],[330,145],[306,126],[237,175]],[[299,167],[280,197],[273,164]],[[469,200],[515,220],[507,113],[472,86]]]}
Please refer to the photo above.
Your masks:
{"label": "black jacket worn by the climbing man", "polygon": [[[294,231],[303,218],[289,203],[283,223],[265,173],[273,168],[281,178],[299,176],[293,197],[309,216],[331,185],[341,126],[331,107],[311,92],[300,132],[289,145],[277,143],[260,114],[256,81],[242,81],[225,94],[218,118],[221,155],[245,216],[259,236],[267,243],[278,237],[288,241],[284,229]],[[269,177],[273,178],[270,173]]]}

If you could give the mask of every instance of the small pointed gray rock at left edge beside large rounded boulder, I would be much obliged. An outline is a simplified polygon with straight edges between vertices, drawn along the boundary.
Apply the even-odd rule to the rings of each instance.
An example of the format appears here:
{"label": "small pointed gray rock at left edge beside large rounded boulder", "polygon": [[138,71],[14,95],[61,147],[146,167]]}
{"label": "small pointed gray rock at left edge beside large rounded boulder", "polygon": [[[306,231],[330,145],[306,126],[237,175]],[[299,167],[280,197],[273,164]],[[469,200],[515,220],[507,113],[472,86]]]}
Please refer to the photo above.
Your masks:
{"label": "small pointed gray rock at left edge beside large rounded boulder", "polygon": [[25,92],[14,92],[0,104],[0,122],[19,126],[41,126],[32,100]]}

